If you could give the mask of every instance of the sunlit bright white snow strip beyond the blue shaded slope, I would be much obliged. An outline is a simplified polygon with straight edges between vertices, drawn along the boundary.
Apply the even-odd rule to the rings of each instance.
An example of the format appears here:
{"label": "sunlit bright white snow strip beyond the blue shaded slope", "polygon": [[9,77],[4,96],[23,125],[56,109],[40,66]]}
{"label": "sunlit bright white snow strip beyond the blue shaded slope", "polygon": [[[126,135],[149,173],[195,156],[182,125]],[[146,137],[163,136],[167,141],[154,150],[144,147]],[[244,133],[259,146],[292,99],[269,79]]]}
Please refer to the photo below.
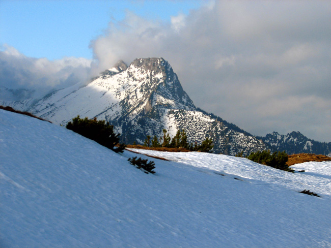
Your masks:
{"label": "sunlit bright white snow strip beyond the blue shaded slope", "polygon": [[[260,165],[245,158],[236,158],[222,154],[129,150],[162,157],[185,165],[210,169],[218,173],[232,174],[233,177],[241,177],[243,180],[253,179],[248,180],[249,182],[258,181],[258,183],[264,183],[265,185],[282,185],[295,191],[302,191],[304,190],[303,188],[308,188],[310,191],[324,194],[325,197],[331,196],[331,162],[307,162],[293,165],[291,168],[297,173],[290,173]],[[301,170],[305,170],[305,172],[298,173]]]}

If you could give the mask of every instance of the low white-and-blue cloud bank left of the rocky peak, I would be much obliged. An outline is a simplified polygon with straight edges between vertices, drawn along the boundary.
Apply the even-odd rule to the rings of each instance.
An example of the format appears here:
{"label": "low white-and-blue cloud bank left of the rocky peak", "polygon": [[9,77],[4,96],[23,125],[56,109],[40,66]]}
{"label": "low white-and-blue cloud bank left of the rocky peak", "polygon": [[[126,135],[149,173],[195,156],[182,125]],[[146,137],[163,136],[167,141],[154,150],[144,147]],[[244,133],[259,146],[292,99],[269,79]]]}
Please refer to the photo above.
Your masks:
{"label": "low white-and-blue cloud bank left of the rocky peak", "polygon": [[[85,58],[64,57],[53,61],[31,58],[11,46],[5,46],[4,51],[0,51],[0,86],[16,91],[34,91],[37,98],[52,89],[86,82],[90,71],[91,60]],[[31,95],[19,94],[16,100],[24,96]]]}

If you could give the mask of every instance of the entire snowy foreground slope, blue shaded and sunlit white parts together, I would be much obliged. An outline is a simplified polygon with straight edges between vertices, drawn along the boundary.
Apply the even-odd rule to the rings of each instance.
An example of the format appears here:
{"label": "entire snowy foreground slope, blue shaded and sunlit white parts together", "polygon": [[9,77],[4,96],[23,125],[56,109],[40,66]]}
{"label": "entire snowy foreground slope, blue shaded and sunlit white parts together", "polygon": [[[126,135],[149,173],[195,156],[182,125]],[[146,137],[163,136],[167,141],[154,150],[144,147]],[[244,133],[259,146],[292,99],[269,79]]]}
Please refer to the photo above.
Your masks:
{"label": "entire snowy foreground slope, blue shaded and sunlit white parts together", "polygon": [[140,152],[172,161],[141,155],[145,174],[139,154],[0,110],[0,247],[331,247],[330,162]]}

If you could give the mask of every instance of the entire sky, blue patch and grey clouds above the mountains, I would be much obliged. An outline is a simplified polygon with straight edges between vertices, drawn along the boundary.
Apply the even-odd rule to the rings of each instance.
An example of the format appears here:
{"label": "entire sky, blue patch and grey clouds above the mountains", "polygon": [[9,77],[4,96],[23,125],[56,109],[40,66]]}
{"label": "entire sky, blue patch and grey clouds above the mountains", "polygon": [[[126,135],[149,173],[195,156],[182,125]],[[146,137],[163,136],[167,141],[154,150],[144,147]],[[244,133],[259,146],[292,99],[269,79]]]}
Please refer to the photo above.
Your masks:
{"label": "entire sky, blue patch and grey clouds above the mountains", "polygon": [[330,1],[0,0],[0,87],[168,60],[195,105],[253,135],[331,142]]}

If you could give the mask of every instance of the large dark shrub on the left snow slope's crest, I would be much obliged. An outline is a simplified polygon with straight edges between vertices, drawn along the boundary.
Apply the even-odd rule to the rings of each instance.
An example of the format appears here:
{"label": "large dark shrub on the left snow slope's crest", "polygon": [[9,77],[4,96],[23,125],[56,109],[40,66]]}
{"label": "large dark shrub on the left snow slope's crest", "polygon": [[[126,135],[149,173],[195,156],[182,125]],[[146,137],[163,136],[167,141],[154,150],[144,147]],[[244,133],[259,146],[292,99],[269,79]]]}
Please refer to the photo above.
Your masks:
{"label": "large dark shrub on the left snow slope's crest", "polygon": [[123,152],[125,148],[124,144],[114,148],[120,141],[120,134],[114,133],[114,126],[109,125],[109,122],[97,120],[96,117],[93,119],[88,119],[87,117],[81,119],[78,115],[68,122],[66,128],[116,152]]}

